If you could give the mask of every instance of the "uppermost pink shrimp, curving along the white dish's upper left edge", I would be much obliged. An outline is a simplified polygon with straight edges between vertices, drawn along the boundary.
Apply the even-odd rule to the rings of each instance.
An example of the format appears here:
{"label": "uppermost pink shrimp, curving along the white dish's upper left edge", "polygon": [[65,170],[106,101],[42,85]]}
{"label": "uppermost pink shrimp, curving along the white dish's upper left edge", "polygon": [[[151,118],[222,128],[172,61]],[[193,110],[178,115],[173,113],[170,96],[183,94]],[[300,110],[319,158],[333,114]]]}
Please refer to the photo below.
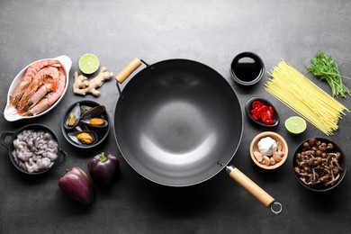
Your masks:
{"label": "uppermost pink shrimp, curving along the white dish's upper left edge", "polygon": [[25,89],[31,84],[33,77],[40,71],[40,69],[49,66],[60,67],[61,64],[58,60],[45,59],[37,61],[28,67],[21,82],[15,86],[14,91],[10,94],[10,104],[17,106],[24,94]]}

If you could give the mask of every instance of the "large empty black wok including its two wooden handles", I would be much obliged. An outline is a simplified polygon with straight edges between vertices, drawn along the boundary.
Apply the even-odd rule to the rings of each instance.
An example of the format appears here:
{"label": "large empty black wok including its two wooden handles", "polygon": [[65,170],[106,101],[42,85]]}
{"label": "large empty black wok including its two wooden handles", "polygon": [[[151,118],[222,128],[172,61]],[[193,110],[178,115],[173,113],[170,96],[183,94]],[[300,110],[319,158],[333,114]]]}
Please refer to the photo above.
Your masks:
{"label": "large empty black wok including its two wooden handles", "polygon": [[[141,62],[135,58],[124,67],[118,83]],[[238,96],[223,76],[202,63],[169,59],[144,64],[122,91],[117,83],[114,133],[121,154],[157,184],[202,183],[219,173],[238,149],[243,130]],[[266,206],[275,201],[237,168],[226,167]]]}

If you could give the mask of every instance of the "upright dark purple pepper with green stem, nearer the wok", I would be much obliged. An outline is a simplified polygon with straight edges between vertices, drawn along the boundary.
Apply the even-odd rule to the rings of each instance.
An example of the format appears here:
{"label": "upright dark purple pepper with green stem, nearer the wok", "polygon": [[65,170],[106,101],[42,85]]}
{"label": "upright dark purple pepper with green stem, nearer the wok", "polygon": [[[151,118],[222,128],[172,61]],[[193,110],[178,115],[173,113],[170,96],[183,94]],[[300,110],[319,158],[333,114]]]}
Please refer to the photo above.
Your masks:
{"label": "upright dark purple pepper with green stem, nearer the wok", "polygon": [[96,155],[87,163],[87,170],[95,184],[107,186],[120,174],[120,162],[112,155]]}

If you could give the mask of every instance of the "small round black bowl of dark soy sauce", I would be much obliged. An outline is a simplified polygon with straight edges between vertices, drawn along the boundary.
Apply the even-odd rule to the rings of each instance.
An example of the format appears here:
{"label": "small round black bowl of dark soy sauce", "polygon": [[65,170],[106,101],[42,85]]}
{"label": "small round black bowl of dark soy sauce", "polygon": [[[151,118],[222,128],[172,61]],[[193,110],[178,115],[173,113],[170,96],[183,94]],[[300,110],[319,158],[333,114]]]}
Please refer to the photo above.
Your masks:
{"label": "small round black bowl of dark soy sauce", "polygon": [[265,65],[257,54],[242,52],[231,61],[230,75],[238,85],[255,85],[265,75]]}

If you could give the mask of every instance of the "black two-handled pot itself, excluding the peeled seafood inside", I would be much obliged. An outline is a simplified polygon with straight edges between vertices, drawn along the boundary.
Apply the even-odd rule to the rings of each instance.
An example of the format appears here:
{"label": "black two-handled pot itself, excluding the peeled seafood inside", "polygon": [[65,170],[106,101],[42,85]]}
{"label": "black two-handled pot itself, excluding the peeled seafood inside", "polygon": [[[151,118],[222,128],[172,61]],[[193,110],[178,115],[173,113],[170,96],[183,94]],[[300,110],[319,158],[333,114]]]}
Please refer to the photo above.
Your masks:
{"label": "black two-handled pot itself, excluding the peeled seafood inside", "polygon": [[8,149],[9,157],[10,157],[11,161],[13,162],[14,166],[18,170],[20,170],[21,172],[28,174],[28,175],[39,175],[39,174],[42,174],[44,172],[49,171],[49,169],[51,169],[53,166],[63,166],[65,164],[67,153],[59,147],[59,142],[58,142],[58,158],[55,161],[53,161],[53,164],[51,166],[49,166],[43,170],[40,170],[38,172],[27,172],[27,171],[23,170],[23,168],[21,166],[19,166],[18,163],[15,161],[14,156],[13,156],[14,140],[17,139],[17,136],[21,132],[23,132],[23,130],[44,130],[45,132],[49,132],[52,139],[54,139],[56,142],[58,142],[58,138],[57,138],[56,134],[52,130],[50,130],[48,127],[41,125],[41,124],[29,124],[29,125],[22,127],[19,130],[4,131],[1,135],[0,143],[4,146],[4,148]]}

